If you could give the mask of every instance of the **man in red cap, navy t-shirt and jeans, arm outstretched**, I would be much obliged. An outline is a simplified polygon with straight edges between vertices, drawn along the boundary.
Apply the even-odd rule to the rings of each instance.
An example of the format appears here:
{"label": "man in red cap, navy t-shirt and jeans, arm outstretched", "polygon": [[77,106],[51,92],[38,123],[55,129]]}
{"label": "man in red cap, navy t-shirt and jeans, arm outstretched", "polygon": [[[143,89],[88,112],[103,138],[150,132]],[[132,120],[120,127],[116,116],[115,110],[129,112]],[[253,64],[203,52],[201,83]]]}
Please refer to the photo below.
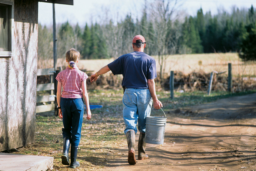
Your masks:
{"label": "man in red cap, navy t-shirt and jeans, arm outstretched", "polygon": [[114,75],[123,75],[123,117],[126,127],[124,133],[129,149],[128,163],[131,165],[136,164],[134,146],[137,122],[140,131],[138,160],[144,160],[148,159],[148,155],[145,152],[146,117],[150,115],[152,101],[154,108],[160,109],[163,107],[156,96],[154,81],[156,78],[156,61],[143,52],[145,47],[145,38],[141,35],[136,35],[132,39],[134,52],[120,56],[91,76],[91,82],[93,82],[101,74],[105,74],[108,71],[112,71]]}

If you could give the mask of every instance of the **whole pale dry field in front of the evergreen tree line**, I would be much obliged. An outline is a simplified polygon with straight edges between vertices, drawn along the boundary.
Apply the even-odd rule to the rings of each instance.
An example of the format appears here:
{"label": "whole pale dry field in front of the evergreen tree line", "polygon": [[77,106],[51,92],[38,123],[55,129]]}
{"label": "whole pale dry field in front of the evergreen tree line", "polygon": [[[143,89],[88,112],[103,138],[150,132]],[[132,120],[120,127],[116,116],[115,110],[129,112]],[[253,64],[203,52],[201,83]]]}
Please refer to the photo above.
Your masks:
{"label": "whole pale dry field in front of the evergreen tree line", "polygon": [[[158,63],[158,57],[153,57],[156,59],[156,68],[159,71],[160,67]],[[81,59],[77,63],[77,66],[80,69],[95,72],[112,61],[113,59]],[[170,73],[170,71],[180,71],[184,74],[188,74],[194,71],[203,71],[205,73],[210,73],[212,71],[228,72],[228,63],[232,63],[232,74],[234,76],[256,76],[256,63],[242,62],[241,59],[238,57],[237,53],[187,54],[166,56],[165,72],[168,74]],[[67,66],[65,59],[58,59],[57,65]]]}

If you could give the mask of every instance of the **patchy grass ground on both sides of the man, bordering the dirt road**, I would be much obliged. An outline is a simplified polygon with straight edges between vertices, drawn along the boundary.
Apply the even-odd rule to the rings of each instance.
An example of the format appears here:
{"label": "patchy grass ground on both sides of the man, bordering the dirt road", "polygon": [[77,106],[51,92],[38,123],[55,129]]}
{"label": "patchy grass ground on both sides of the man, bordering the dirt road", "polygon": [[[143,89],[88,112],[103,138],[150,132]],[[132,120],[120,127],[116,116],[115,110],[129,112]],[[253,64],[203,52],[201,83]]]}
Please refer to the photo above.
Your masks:
{"label": "patchy grass ground on both sides of the man, bordering the dirt road", "polygon": [[[126,152],[120,152],[120,149],[127,149],[126,137],[123,132],[125,128],[122,116],[123,90],[90,90],[88,93],[90,104],[103,105],[103,108],[92,109],[91,120],[88,121],[84,118],[77,157],[81,166],[75,169],[77,171],[100,170],[108,166],[109,160],[116,160],[127,155]],[[255,91],[247,93],[255,93]],[[176,92],[174,99],[170,99],[168,91],[157,92],[157,94],[159,100],[163,102],[165,114],[170,117],[174,110],[185,106],[246,93],[214,92],[207,96],[205,92]],[[51,112],[47,114],[49,115]],[[187,117],[186,114],[184,113],[180,117]],[[42,113],[36,115],[35,143],[19,148],[20,152],[15,153],[51,156],[54,157],[53,171],[74,170],[61,164],[62,120],[53,115],[44,115]],[[152,110],[151,115],[162,116],[163,113]]]}

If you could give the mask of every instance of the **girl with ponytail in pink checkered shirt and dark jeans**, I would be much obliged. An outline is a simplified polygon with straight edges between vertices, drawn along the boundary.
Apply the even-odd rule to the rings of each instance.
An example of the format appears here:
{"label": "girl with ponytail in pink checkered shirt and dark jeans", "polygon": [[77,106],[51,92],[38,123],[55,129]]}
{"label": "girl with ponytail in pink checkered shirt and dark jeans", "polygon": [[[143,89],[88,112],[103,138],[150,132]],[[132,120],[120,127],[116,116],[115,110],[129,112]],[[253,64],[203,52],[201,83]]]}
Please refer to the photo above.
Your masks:
{"label": "girl with ponytail in pink checkered shirt and dark jeans", "polygon": [[[59,117],[62,118],[63,126],[63,154],[61,162],[63,165],[69,165],[71,168],[79,167],[76,161],[78,145],[81,138],[81,127],[84,115],[84,101],[86,105],[87,119],[91,119],[89,98],[86,90],[86,79],[88,76],[80,71],[76,63],[80,58],[80,53],[72,48],[66,53],[66,62],[68,67],[61,71],[56,79],[57,87],[57,108]],[[61,92],[61,87],[63,91]],[[82,88],[82,89],[81,89]],[[84,99],[83,99],[84,98]],[[69,146],[71,144],[70,163],[68,159]]]}

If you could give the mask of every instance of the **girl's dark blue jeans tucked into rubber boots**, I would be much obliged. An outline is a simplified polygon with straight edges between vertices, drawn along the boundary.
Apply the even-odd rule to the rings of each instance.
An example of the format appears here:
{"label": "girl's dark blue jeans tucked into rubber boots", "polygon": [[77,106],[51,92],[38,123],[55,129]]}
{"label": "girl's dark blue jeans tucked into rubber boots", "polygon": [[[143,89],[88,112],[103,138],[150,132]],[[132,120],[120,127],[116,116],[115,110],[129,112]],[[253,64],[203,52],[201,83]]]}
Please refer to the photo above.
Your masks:
{"label": "girl's dark blue jeans tucked into rubber boots", "polygon": [[60,99],[62,111],[63,138],[71,139],[71,146],[78,146],[81,138],[81,128],[84,116],[84,100],[82,98],[62,98]]}

